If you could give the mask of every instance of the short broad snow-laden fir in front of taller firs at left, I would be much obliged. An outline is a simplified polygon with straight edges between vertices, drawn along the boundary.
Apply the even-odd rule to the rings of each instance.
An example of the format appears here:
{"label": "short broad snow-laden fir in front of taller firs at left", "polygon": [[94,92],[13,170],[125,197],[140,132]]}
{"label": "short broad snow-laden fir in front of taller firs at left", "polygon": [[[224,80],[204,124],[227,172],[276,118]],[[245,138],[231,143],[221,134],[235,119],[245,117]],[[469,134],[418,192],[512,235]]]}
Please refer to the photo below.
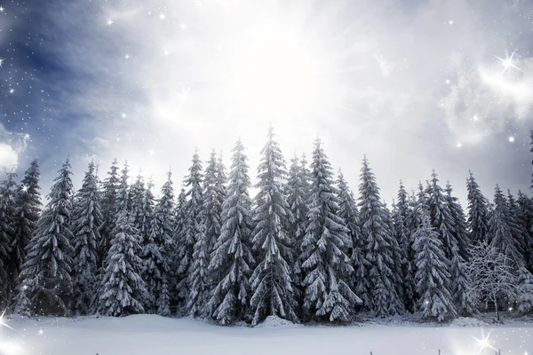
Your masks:
{"label": "short broad snow-laden fir in front of taller firs at left", "polygon": [[139,275],[142,267],[140,235],[128,214],[126,209],[118,213],[99,287],[98,311],[107,316],[144,312],[141,300],[147,290]]}

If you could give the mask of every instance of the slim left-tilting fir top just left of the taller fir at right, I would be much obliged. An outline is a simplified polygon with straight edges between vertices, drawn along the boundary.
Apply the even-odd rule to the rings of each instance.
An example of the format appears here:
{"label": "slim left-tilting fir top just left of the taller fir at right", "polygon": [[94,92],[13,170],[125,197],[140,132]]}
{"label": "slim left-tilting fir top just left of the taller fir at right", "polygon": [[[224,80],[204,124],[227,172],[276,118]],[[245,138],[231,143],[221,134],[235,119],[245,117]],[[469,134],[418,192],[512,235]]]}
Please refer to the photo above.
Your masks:
{"label": "slim left-tilting fir top just left of the taller fir at right", "polygon": [[448,181],[445,188],[445,200],[452,221],[451,225],[453,225],[453,231],[451,231],[451,233],[457,241],[457,252],[460,254],[461,258],[466,261],[468,260],[468,249],[470,248],[472,241],[470,240],[470,234],[468,233],[465,211],[461,207],[459,199],[451,194],[452,191],[453,189]]}

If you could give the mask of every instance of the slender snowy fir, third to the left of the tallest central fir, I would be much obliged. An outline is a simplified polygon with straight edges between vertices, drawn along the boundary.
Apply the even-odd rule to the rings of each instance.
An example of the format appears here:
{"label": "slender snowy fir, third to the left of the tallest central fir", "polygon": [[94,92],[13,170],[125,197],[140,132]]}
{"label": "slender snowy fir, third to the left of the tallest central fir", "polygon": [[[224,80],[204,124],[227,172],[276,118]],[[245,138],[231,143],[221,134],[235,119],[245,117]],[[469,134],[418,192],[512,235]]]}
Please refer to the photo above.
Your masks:
{"label": "slender snowy fir, third to the left of the tallest central fir", "polygon": [[179,241],[179,272],[182,275],[179,288],[182,288],[181,292],[187,292],[187,313],[196,317],[204,315],[211,285],[207,271],[209,245],[205,234],[202,162],[197,150],[192,163],[185,180],[188,201],[183,239]]}

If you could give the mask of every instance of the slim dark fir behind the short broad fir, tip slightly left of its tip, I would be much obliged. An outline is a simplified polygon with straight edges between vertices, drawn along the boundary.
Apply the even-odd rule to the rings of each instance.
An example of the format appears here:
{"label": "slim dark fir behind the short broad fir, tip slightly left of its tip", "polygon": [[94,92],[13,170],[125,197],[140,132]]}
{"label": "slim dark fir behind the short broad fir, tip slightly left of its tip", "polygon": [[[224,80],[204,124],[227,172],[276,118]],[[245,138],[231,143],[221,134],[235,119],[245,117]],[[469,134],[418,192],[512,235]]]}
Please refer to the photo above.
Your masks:
{"label": "slim dark fir behind the short broad fir, tip slightly left of its tip", "polygon": [[99,267],[107,256],[113,229],[115,228],[117,214],[117,194],[120,186],[118,177],[118,163],[113,161],[111,168],[107,172],[107,178],[102,184],[102,200],[100,202],[102,211],[102,224],[100,225],[100,245],[99,245]]}

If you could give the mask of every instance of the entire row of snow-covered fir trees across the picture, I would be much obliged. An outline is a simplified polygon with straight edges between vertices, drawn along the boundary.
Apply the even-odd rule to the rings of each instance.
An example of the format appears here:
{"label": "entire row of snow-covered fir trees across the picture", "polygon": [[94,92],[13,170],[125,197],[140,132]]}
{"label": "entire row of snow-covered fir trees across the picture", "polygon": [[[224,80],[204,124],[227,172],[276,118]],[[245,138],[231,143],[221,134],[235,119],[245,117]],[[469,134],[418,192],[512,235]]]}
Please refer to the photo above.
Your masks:
{"label": "entire row of snow-covered fir trees across the picture", "polygon": [[[532,131],[533,142],[533,131]],[[533,152],[533,148],[532,148]],[[64,162],[42,206],[39,165],[0,186],[0,305],[13,314],[153,313],[219,324],[268,316],[347,322],[414,313],[449,321],[533,311],[533,200],[470,173],[467,208],[434,172],[388,209],[366,157],[357,193],[322,148],[285,162],[268,130],[251,198],[239,140],[227,169],[196,151],[179,191],[155,198],[128,164],[75,191]],[[307,160],[309,162],[307,162]]]}

